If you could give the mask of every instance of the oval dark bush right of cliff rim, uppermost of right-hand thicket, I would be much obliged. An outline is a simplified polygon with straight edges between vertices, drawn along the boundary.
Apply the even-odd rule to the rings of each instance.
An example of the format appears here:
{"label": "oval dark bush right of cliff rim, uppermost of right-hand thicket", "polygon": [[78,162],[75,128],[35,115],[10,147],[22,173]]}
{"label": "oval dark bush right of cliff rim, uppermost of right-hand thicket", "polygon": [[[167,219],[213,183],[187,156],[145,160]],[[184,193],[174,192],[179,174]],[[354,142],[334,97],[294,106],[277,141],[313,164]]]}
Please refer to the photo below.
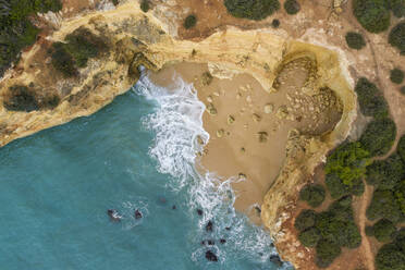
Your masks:
{"label": "oval dark bush right of cliff rim, uppermost of right-hand thicket", "polygon": [[367,78],[357,81],[355,91],[358,96],[360,111],[366,116],[384,118],[389,115],[388,103],[379,88]]}

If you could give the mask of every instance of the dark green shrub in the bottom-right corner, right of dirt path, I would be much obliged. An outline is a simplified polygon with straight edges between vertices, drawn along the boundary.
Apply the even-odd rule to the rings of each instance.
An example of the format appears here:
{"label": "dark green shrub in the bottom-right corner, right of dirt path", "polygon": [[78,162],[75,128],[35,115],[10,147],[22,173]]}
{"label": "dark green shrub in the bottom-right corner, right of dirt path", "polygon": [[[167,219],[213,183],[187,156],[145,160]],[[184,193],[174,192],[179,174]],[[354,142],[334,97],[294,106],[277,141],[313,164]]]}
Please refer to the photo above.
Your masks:
{"label": "dark green shrub in the bottom-right corner, right of dirt path", "polygon": [[396,243],[383,245],[376,256],[377,270],[404,270],[405,250]]}

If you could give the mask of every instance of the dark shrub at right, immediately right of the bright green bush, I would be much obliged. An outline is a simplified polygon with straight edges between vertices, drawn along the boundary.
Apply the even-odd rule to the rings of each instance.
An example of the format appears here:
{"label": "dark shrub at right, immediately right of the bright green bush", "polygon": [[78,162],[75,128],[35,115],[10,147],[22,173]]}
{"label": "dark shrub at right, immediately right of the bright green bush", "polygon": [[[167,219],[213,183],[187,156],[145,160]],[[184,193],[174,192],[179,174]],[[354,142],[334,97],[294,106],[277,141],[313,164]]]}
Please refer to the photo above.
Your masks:
{"label": "dark shrub at right, immediately right of the bright green bush", "polygon": [[392,155],[385,160],[376,160],[367,167],[367,184],[382,189],[393,188],[404,176],[405,169],[401,157]]}

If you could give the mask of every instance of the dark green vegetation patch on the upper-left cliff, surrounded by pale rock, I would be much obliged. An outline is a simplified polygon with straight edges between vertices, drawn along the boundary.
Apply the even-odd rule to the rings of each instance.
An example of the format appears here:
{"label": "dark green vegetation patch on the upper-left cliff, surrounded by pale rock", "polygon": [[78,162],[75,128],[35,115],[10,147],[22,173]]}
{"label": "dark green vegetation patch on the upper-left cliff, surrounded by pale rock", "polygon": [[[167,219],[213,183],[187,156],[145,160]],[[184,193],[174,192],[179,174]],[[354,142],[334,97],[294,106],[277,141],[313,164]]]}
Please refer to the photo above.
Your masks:
{"label": "dark green vegetation patch on the upper-left cliff, surrounded by pale rock", "polygon": [[52,45],[52,65],[65,77],[77,74],[90,58],[100,56],[107,49],[103,40],[86,28],[78,28],[68,35],[64,42]]}

